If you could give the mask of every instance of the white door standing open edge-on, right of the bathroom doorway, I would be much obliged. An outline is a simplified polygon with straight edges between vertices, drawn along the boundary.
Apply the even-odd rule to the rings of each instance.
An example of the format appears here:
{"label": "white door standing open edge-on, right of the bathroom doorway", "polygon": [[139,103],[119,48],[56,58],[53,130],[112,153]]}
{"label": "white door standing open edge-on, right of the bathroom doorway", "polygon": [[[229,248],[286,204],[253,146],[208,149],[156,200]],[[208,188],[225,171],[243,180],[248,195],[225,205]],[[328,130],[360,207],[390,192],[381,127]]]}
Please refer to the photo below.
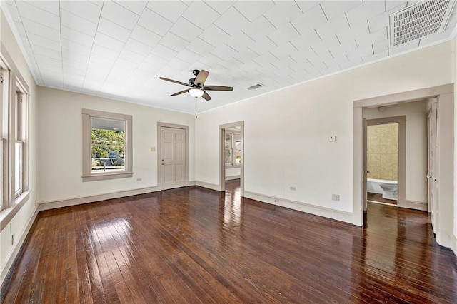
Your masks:
{"label": "white door standing open edge-on, right of the bathroom doorway", "polygon": [[437,108],[436,102],[431,104],[427,113],[427,179],[428,179],[428,212],[431,213],[431,226],[436,231],[438,225],[438,166],[437,166]]}

